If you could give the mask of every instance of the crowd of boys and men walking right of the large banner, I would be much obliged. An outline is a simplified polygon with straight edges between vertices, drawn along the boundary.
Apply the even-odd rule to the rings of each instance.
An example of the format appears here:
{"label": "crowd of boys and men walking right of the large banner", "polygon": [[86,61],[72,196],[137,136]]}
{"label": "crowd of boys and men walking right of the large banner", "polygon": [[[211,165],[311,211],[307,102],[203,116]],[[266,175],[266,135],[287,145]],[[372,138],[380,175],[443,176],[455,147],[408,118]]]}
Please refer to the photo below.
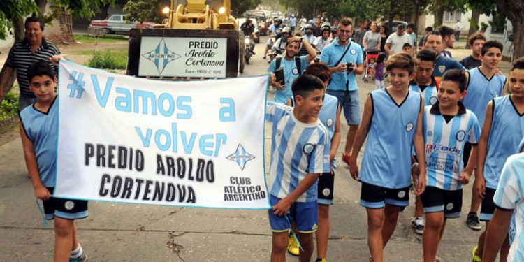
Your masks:
{"label": "crowd of boys and men walking right of the large banner", "polygon": [[[316,17],[316,27],[322,25],[320,19]],[[341,160],[349,166],[351,176],[361,182],[360,204],[367,212],[370,261],[387,258],[384,247],[395,230],[399,212],[409,205],[410,188],[416,195],[412,226],[423,235],[422,260],[439,261],[437,249],[446,220],[460,217],[462,186],[473,180],[472,175],[474,186],[466,223],[474,230],[481,230],[481,221],[486,223],[472,250],[473,261],[494,261],[499,251],[501,261],[520,261],[518,258],[524,257],[517,240],[523,221],[520,190],[524,154],[517,153],[522,152],[519,143],[524,143],[524,57],[504,72],[509,73],[507,78],[498,69],[504,46],[488,41],[482,33],[468,38],[472,54],[458,61],[446,50],[453,48],[456,37],[456,30],[450,27],[426,28],[418,45],[413,24],[407,28],[399,24],[393,34],[387,34],[384,20],[380,24],[363,22],[354,30],[353,22],[344,18],[331,28],[335,28],[335,34],[316,54],[319,63],[297,66],[294,61],[300,57],[300,48],[294,43],[308,51],[312,48],[305,37],[294,37],[281,41],[285,52],[279,66],[275,67],[277,62],[273,61],[268,68],[269,72],[284,69],[284,80],[274,74],[270,80],[277,98],[272,105],[279,109],[268,113],[279,112],[281,117],[271,121],[273,129],[290,126],[286,137],[274,134],[272,141],[288,149],[272,152],[278,156],[272,164],[284,163],[287,168],[270,169],[271,260],[284,261],[287,245],[300,261],[309,261],[312,233],[316,231],[316,261],[326,261],[328,210],[333,204],[337,168],[333,151],[337,151],[342,136],[343,112],[349,131]],[[456,29],[460,29],[460,23]],[[305,58],[314,61],[316,57],[309,52]],[[367,96],[361,115],[356,76],[365,73],[366,67],[371,69],[377,89]],[[305,81],[310,75],[320,81]],[[384,87],[385,75],[391,82],[388,87]],[[299,91],[321,82],[324,104],[330,109],[319,105],[318,92],[310,92],[314,94],[314,101],[310,101],[307,92]],[[333,98],[338,101],[336,110]],[[283,105],[284,101],[293,108]],[[293,125],[281,121],[293,121]],[[314,124],[316,129],[323,125],[326,129],[315,136],[319,140],[314,143],[321,145],[323,158],[301,151],[302,146],[312,143],[302,140],[303,127],[291,127],[301,124]],[[358,153],[366,138],[359,166]],[[307,164],[295,166],[298,162],[288,157],[300,154]],[[312,168],[319,166],[323,169]],[[318,209],[314,211],[312,205]],[[283,219],[290,222],[282,226]],[[303,247],[300,252],[293,232]],[[510,244],[513,240],[516,245]]]}

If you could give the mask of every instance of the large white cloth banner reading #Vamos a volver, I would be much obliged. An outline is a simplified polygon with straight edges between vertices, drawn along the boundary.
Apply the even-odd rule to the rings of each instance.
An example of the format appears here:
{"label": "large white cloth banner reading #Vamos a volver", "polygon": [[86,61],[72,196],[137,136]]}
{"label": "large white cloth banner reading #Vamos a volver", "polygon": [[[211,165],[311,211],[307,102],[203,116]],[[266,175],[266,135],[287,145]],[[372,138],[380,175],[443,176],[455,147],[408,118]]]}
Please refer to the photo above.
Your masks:
{"label": "large white cloth banner reading #Vamos a volver", "polygon": [[267,75],[171,82],[61,61],[54,196],[270,208],[267,86]]}

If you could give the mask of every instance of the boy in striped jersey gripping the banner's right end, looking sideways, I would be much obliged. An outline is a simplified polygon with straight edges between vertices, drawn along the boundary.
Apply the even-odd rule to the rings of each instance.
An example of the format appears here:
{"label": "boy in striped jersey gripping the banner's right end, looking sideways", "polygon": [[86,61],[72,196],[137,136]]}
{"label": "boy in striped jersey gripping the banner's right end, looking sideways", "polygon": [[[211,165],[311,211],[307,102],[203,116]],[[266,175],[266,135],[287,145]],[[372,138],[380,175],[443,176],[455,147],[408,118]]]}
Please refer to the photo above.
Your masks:
{"label": "boy in striped jersey gripping the banner's right end, looking sideways", "polygon": [[300,261],[310,261],[316,231],[319,174],[328,173],[328,131],[319,120],[323,82],[301,75],[291,87],[295,107],[268,102],[265,119],[272,123],[270,157],[271,261],[286,261],[288,231],[295,222],[303,247]]}

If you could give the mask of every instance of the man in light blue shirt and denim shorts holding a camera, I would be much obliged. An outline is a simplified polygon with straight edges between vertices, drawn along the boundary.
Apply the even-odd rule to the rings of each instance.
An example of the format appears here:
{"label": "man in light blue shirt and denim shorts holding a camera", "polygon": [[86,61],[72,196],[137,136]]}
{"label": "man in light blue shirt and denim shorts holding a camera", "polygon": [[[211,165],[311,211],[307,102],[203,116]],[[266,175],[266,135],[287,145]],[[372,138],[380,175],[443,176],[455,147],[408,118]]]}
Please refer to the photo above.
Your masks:
{"label": "man in light blue shirt and denim shorts holding a camera", "polygon": [[344,110],[349,131],[346,136],[346,147],[342,154],[342,161],[349,165],[349,154],[361,124],[361,108],[358,99],[356,75],[364,73],[362,48],[358,43],[349,41],[353,31],[351,20],[344,18],[338,24],[338,37],[333,43],[322,50],[320,61],[330,67],[331,82],[328,85],[328,94],[336,96]]}

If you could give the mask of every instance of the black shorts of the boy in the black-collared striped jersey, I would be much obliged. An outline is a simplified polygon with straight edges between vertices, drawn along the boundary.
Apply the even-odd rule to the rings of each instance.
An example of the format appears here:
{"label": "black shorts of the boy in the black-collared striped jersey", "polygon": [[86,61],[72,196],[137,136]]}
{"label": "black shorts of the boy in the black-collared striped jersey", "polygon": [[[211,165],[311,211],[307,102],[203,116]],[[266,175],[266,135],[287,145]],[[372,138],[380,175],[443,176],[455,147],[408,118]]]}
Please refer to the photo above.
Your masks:
{"label": "black shorts of the boy in the black-collared striped jersey", "polygon": [[425,213],[444,212],[446,218],[460,217],[462,210],[462,189],[444,190],[438,187],[425,187],[421,194]]}

